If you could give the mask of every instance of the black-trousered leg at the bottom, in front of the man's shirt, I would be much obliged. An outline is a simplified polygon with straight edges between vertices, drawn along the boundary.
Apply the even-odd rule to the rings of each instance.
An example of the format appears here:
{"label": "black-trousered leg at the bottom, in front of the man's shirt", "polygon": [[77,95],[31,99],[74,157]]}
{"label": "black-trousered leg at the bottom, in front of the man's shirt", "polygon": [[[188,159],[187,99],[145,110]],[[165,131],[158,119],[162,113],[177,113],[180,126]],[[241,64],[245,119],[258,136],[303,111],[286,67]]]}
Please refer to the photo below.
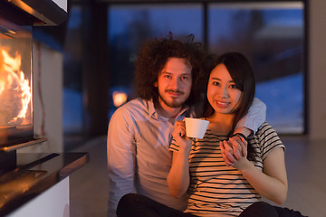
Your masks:
{"label": "black-trousered leg at the bottom, in front of the man's shirt", "polygon": [[117,207],[119,217],[190,217],[195,216],[172,209],[137,193],[121,197]]}

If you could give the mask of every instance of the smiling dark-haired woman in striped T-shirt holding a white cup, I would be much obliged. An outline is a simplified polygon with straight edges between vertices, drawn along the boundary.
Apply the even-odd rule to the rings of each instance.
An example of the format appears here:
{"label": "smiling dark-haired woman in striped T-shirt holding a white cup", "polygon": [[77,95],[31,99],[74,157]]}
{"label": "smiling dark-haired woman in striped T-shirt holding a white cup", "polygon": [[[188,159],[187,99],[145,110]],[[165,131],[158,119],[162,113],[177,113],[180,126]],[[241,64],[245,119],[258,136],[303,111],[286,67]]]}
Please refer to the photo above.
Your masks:
{"label": "smiling dark-haired woman in striped T-shirt holding a white cup", "polygon": [[[254,99],[254,73],[249,62],[244,55],[229,52],[212,66],[206,78],[204,118],[210,123],[205,137],[190,139],[185,123],[175,124],[167,179],[170,193],[175,197],[188,193],[187,215],[302,216],[261,202],[264,196],[281,204],[287,195],[284,146],[273,127],[264,123],[248,139],[233,135],[235,123],[245,116]],[[156,209],[156,213],[165,210]]]}

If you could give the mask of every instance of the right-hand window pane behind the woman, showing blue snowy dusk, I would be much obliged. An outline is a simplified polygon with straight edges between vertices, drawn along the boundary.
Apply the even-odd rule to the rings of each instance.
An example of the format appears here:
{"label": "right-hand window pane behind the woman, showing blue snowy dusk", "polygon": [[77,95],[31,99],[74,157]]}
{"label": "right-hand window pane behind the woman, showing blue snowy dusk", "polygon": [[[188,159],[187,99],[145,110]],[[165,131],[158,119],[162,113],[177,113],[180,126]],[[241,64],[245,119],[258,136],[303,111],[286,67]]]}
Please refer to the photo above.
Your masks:
{"label": "right-hand window pane behind the woman, showing blue snowy dusk", "polygon": [[277,132],[304,131],[302,3],[211,4],[210,52],[242,52],[253,65],[256,97]]}

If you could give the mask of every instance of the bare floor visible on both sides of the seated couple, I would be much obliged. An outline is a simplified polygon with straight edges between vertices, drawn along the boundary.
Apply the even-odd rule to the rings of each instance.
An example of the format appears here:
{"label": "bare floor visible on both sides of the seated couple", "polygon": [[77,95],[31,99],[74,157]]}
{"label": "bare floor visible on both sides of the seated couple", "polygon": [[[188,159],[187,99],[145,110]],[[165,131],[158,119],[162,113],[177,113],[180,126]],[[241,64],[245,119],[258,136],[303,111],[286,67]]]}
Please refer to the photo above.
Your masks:
{"label": "bare floor visible on both sides of the seated couple", "polygon": [[[326,141],[305,137],[281,137],[289,180],[287,201],[283,204],[311,217],[326,216]],[[71,216],[106,216],[108,175],[106,137],[98,137],[74,152],[89,152],[90,162],[71,175]]]}

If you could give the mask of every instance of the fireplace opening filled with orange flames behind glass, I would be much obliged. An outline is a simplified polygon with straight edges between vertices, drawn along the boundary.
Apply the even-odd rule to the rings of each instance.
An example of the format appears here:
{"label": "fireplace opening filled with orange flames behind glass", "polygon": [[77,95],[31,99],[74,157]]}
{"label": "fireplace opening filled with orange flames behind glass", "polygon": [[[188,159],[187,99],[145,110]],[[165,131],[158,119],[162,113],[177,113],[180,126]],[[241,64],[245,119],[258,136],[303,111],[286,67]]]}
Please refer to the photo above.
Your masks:
{"label": "fireplace opening filled with orange flames behind glass", "polygon": [[0,148],[34,140],[32,27],[0,18]]}

